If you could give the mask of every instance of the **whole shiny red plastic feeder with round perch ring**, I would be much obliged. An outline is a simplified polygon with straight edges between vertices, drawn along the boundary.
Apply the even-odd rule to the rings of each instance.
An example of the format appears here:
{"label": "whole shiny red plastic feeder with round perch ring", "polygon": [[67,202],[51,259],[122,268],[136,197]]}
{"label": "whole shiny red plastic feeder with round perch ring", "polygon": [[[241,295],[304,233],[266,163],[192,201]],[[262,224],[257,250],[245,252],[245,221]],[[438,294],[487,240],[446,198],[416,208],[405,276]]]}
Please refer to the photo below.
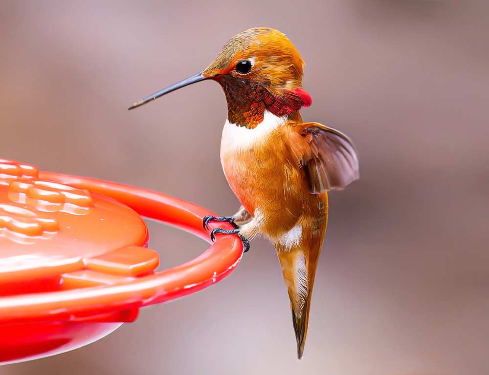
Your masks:
{"label": "whole shiny red plastic feeder with round perch ring", "polygon": [[134,321],[143,306],[227,276],[242,256],[237,236],[218,236],[197,258],[155,272],[159,256],[140,216],[211,243],[202,228],[210,214],[154,191],[0,160],[0,364],[79,348]]}

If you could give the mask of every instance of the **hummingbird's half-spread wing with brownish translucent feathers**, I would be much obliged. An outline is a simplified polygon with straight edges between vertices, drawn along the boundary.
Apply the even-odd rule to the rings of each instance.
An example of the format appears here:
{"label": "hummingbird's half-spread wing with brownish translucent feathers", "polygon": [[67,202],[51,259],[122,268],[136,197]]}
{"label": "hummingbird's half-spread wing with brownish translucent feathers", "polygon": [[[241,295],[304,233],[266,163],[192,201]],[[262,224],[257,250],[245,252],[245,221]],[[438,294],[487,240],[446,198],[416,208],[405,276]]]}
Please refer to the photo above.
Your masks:
{"label": "hummingbird's half-spread wing with brownish translucent feathers", "polygon": [[311,151],[305,154],[303,164],[312,194],[341,190],[358,179],[358,157],[350,138],[318,123],[301,127]]}

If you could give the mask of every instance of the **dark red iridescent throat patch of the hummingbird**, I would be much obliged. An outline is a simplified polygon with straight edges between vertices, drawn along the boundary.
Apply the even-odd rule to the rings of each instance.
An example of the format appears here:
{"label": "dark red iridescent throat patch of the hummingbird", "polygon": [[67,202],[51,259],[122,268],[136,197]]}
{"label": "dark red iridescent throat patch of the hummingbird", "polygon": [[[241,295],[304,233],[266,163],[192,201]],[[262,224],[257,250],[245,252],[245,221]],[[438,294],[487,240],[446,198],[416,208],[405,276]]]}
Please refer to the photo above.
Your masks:
{"label": "dark red iridescent throat patch of the hummingbird", "polygon": [[303,106],[301,98],[294,94],[273,94],[265,86],[237,80],[222,80],[227,100],[227,119],[231,124],[253,129],[263,122],[268,111],[277,117],[298,118]]}

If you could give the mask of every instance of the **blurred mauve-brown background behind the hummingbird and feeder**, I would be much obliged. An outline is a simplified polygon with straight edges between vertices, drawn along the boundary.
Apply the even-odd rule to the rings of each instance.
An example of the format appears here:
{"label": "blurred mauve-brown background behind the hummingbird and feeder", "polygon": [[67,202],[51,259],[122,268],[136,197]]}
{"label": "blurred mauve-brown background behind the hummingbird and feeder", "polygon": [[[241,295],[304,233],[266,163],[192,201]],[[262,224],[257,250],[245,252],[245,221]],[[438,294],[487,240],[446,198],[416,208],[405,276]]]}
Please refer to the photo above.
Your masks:
{"label": "blurred mauve-brown background behind the hummingbird and feeder", "polygon": [[[483,375],[489,371],[487,1],[6,1],[0,157],[239,206],[219,161],[225,99],[200,71],[234,34],[285,32],[303,110],[349,134],[361,180],[330,195],[304,360],[271,245],[216,286],[142,310],[23,374]],[[149,223],[162,265],[206,249]]]}

